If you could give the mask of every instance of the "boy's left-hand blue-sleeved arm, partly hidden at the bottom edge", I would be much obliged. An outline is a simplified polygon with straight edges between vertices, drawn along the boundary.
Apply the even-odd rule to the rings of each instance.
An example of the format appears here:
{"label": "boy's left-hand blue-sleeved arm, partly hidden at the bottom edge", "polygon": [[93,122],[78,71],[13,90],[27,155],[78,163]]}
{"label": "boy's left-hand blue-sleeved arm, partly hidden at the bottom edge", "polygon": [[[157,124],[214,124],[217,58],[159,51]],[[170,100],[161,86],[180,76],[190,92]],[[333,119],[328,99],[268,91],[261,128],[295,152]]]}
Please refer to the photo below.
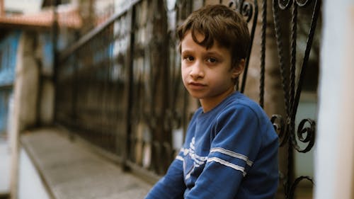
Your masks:
{"label": "boy's left-hand blue-sleeved arm, partly hidden at the bottom edge", "polygon": [[183,161],[178,156],[171,163],[166,175],[154,185],[145,199],[179,199],[183,198],[184,191]]}

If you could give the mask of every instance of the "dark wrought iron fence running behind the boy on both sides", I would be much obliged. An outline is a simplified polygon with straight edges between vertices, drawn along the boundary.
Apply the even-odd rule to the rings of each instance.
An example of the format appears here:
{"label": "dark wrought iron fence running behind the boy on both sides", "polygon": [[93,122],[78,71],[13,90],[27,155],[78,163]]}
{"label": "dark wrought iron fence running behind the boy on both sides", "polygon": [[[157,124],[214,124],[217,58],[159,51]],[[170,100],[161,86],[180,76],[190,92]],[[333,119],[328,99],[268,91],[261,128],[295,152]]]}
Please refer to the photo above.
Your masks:
{"label": "dark wrought iron fence running behind the boy on both sides", "polygon": [[[162,175],[181,147],[190,114],[198,104],[188,97],[180,74],[176,26],[188,14],[205,4],[227,4],[249,22],[251,37],[261,38],[261,56],[246,62],[239,90],[245,91],[250,59],[260,59],[259,103],[264,106],[265,30],[267,4],[254,1],[132,0],[108,21],[84,35],[59,54],[55,120],[81,137],[113,154],[130,169]],[[261,35],[255,35],[261,7]],[[320,1],[273,0],[273,18],[285,115],[271,120],[286,146],[287,171],[281,181],[285,198],[294,198],[299,181],[293,174],[293,149],[308,152],[314,145],[314,120],[295,127],[295,115],[304,83],[309,53],[319,17]],[[301,67],[297,67],[298,10],[312,9]],[[281,11],[291,10],[290,38],[281,33]],[[307,21],[309,19],[306,19]],[[285,64],[282,40],[291,40],[290,65]],[[295,70],[301,69],[297,73]],[[299,74],[297,76],[296,74]],[[295,131],[297,130],[297,134]],[[309,143],[300,149],[297,142]]]}

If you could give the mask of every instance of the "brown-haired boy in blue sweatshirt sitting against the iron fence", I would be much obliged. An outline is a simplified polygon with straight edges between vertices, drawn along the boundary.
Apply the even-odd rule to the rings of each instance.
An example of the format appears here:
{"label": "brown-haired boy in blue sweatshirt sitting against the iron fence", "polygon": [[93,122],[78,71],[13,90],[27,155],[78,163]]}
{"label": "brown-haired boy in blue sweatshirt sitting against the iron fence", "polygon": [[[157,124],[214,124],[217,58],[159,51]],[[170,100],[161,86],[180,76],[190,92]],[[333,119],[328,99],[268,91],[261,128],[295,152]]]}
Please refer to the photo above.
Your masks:
{"label": "brown-haired boy in blue sweatshirt sitting against the iron fence", "polygon": [[183,84],[201,107],[146,198],[274,198],[278,136],[263,109],[234,89],[250,43],[246,22],[227,6],[205,6],[178,37]]}

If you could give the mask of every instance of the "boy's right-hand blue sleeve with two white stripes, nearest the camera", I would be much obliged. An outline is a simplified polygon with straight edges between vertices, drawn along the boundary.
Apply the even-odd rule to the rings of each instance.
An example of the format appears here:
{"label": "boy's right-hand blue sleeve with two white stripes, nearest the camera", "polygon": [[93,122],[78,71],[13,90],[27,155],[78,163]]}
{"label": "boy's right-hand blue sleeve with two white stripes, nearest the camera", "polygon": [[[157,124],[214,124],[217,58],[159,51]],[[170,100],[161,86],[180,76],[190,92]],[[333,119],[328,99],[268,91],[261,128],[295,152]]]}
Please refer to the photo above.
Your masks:
{"label": "boy's right-hand blue sleeve with two white stripes, nearest the camera", "polygon": [[257,114],[247,106],[217,116],[205,169],[185,199],[235,198],[260,148],[259,131]]}

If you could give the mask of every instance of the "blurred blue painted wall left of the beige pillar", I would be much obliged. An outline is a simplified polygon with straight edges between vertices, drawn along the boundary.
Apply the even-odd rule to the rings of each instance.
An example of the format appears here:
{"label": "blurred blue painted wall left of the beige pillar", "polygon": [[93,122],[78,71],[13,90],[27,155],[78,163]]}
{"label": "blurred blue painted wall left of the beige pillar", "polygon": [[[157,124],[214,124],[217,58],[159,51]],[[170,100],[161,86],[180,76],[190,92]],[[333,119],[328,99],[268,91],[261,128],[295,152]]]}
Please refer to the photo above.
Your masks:
{"label": "blurred blue painted wall left of the beige pillar", "polygon": [[21,31],[8,33],[0,39],[0,134],[7,126],[8,102],[13,92],[16,57]]}

